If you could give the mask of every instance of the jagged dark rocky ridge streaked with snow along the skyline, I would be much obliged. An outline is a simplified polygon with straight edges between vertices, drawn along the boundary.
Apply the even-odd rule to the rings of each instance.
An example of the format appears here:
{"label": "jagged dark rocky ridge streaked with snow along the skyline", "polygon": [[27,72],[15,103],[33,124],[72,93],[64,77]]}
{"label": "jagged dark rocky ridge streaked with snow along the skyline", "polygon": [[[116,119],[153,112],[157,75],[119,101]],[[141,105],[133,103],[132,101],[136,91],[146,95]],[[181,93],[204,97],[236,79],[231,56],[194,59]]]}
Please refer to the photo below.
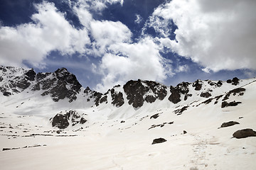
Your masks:
{"label": "jagged dark rocky ridge streaked with snow along the skyline", "polygon": [[[74,74],[68,69],[60,68],[55,72],[34,72],[33,69],[16,67],[0,67],[0,91],[4,96],[23,93],[24,90],[42,91],[41,96],[51,96],[53,101],[58,102],[65,98],[70,103],[76,101],[78,95],[84,96],[83,101],[92,101],[93,105],[112,103],[113,106],[124,105],[124,98],[134,108],[140,108],[144,103],[154,103],[156,100],[163,101],[168,98],[171,103],[179,103],[191,98],[209,98],[214,89],[222,88],[223,84],[238,86],[242,80],[237,77],[227,81],[201,81],[181,82],[176,86],[166,86],[156,81],[144,81],[141,79],[127,81],[123,86],[117,85],[109,89],[105,94],[92,91],[88,86],[83,88]],[[170,91],[171,94],[167,95]],[[29,93],[29,91],[26,91]],[[108,97],[108,94],[111,94]]]}

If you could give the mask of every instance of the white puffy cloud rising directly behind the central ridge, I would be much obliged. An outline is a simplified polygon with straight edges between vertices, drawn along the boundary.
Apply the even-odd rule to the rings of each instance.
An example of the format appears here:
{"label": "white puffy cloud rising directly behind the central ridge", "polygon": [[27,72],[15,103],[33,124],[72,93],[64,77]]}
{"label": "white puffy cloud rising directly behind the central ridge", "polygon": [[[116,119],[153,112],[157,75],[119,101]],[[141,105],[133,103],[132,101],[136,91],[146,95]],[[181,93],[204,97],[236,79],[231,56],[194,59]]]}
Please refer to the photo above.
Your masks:
{"label": "white puffy cloud rising directly behind the central ridge", "polygon": [[112,53],[102,57],[100,68],[105,72],[97,90],[105,91],[115,84],[124,84],[129,79],[164,81],[171,75],[171,67],[159,54],[159,45],[146,37],[137,43],[117,43],[110,46]]}

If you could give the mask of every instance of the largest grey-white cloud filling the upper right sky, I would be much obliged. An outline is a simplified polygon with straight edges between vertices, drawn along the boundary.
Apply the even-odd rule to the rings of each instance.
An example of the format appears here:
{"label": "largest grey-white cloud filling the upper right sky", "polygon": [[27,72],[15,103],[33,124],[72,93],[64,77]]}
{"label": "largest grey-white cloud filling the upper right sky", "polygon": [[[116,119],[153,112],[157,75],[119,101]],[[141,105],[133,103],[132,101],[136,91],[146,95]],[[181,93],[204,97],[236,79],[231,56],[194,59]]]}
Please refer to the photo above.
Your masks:
{"label": "largest grey-white cloud filling the upper right sky", "polygon": [[[256,1],[173,0],[155,9],[147,26],[163,45],[206,72],[256,68]],[[170,40],[173,21],[176,40]]]}

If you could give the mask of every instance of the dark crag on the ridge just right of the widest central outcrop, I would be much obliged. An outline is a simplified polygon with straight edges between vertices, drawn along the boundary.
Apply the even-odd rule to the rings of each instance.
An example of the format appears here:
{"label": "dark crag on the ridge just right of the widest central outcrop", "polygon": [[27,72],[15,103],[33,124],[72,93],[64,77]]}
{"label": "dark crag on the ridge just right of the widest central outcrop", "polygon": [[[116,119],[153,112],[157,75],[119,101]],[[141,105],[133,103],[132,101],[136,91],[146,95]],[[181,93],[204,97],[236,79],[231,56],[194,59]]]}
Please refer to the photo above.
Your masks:
{"label": "dark crag on the ridge just right of the widest central outcrop", "polygon": [[188,82],[182,82],[182,83],[178,84],[176,87],[171,86],[170,87],[171,95],[168,98],[169,101],[176,104],[181,101],[181,94],[185,95],[185,97],[184,97],[185,101],[188,98],[188,96],[192,96],[191,94],[188,94],[188,92],[189,92],[188,85],[189,84],[190,83],[188,83]]}

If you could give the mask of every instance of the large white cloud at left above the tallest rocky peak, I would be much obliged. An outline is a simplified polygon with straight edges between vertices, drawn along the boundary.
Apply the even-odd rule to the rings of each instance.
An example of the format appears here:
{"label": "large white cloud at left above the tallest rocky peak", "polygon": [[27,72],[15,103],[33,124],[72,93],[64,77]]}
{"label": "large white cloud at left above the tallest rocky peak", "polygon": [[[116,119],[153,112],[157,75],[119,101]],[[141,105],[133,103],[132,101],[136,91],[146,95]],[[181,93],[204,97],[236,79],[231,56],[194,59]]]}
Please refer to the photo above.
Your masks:
{"label": "large white cloud at left above the tallest rocky peak", "polygon": [[85,52],[90,42],[87,30],[73,28],[52,3],[43,1],[36,9],[38,13],[31,16],[33,23],[0,28],[1,64],[24,67],[23,61],[27,61],[34,67],[44,67],[43,60],[50,51],[63,55]]}

